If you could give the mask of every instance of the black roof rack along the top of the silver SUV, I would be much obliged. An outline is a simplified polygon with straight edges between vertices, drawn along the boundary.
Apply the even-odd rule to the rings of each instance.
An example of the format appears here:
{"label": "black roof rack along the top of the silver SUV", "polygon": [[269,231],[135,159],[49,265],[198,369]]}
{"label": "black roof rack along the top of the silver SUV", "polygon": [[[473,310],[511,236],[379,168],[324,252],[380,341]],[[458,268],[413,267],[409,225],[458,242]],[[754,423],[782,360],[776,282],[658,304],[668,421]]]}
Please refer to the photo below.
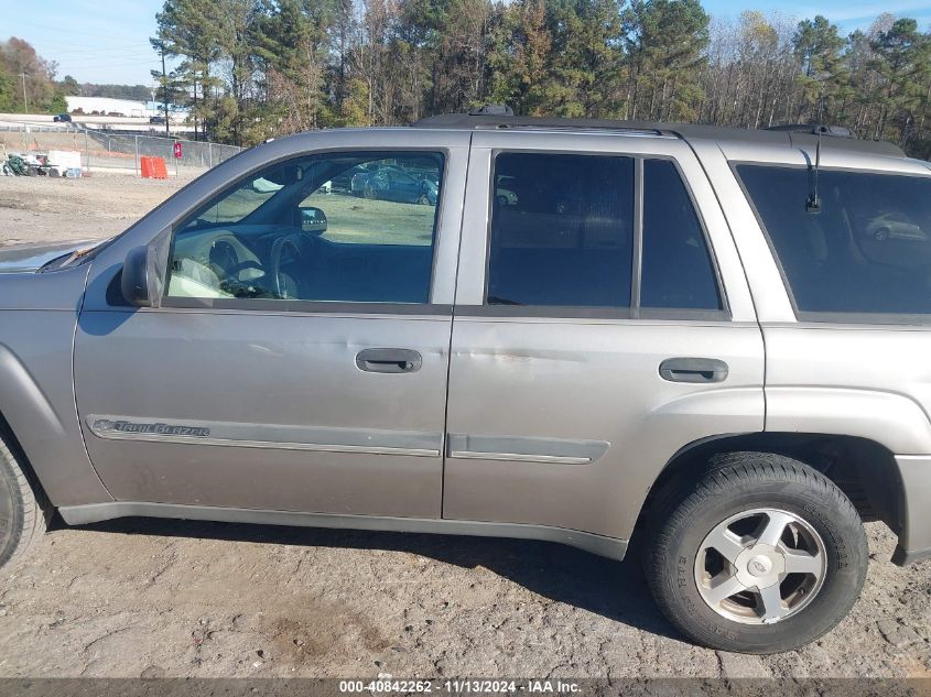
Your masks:
{"label": "black roof rack along the top of the silver SUV", "polygon": [[788,148],[811,148],[819,135],[830,135],[824,146],[870,155],[905,157],[902,150],[885,141],[858,140],[852,131],[837,126],[788,124],[769,129],[744,129],[699,123],[664,123],[657,121],[620,121],[611,119],[562,119],[552,117],[513,116],[504,105],[486,105],[468,113],[444,113],[426,117],[411,124],[413,128],[435,129],[521,129],[615,131],[624,134],[651,134],[681,138],[685,141],[712,140],[732,143],[758,143]]}

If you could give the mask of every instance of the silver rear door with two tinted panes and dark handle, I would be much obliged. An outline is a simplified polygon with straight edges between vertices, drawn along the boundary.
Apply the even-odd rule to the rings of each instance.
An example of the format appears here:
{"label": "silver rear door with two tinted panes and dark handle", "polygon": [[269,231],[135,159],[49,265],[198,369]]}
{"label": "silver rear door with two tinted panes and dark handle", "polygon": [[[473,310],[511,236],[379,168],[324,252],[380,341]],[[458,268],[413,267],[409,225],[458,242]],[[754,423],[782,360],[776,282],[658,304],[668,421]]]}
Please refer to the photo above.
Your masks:
{"label": "silver rear door with two tinted panes and dark handle", "polygon": [[626,540],[680,448],[764,426],[707,179],[674,138],[477,132],[467,202],[443,515]]}

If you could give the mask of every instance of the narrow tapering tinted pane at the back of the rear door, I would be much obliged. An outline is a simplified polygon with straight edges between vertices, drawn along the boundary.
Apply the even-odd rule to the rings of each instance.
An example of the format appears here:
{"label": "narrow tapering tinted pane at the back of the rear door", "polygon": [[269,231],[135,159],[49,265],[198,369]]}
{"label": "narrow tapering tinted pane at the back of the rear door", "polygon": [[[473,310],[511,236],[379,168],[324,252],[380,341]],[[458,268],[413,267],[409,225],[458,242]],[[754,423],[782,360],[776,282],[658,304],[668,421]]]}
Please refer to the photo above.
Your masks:
{"label": "narrow tapering tinted pane at the back of the rear door", "polygon": [[643,163],[642,254],[642,307],[721,309],[704,231],[669,160]]}

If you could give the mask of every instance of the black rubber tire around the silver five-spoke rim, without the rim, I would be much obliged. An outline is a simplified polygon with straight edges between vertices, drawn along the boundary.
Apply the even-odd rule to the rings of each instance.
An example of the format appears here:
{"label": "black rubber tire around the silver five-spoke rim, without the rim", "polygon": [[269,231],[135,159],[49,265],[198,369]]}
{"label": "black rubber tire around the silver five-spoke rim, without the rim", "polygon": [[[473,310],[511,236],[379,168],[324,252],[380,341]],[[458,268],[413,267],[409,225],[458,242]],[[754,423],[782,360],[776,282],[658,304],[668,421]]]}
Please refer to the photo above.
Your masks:
{"label": "black rubber tire around the silver five-spoke rim, without the rim", "polygon": [[[756,509],[798,516],[820,535],[826,554],[816,595],[771,624],[746,624],[721,614],[696,581],[705,537],[730,516]],[[657,605],[683,634],[712,649],[753,654],[798,649],[847,614],[866,578],[869,556],[856,509],[827,478],[788,457],[718,456],[697,482],[680,482],[658,494],[648,521],[645,569]]]}

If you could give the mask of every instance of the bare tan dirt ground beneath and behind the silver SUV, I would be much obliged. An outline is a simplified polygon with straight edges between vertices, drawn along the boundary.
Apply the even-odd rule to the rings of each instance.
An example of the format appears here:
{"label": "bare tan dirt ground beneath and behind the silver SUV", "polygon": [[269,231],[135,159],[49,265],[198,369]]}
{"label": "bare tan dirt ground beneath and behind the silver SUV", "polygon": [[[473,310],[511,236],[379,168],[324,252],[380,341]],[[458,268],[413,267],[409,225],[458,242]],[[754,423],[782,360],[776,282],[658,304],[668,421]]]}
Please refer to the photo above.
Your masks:
{"label": "bare tan dirt ground beneath and behind the silver SUV", "polygon": [[[116,233],[174,182],[0,178],[0,240]],[[0,242],[2,243],[2,242]],[[632,562],[544,543],[128,520],[0,573],[0,676],[931,676],[931,563],[800,652],[684,643]]]}

